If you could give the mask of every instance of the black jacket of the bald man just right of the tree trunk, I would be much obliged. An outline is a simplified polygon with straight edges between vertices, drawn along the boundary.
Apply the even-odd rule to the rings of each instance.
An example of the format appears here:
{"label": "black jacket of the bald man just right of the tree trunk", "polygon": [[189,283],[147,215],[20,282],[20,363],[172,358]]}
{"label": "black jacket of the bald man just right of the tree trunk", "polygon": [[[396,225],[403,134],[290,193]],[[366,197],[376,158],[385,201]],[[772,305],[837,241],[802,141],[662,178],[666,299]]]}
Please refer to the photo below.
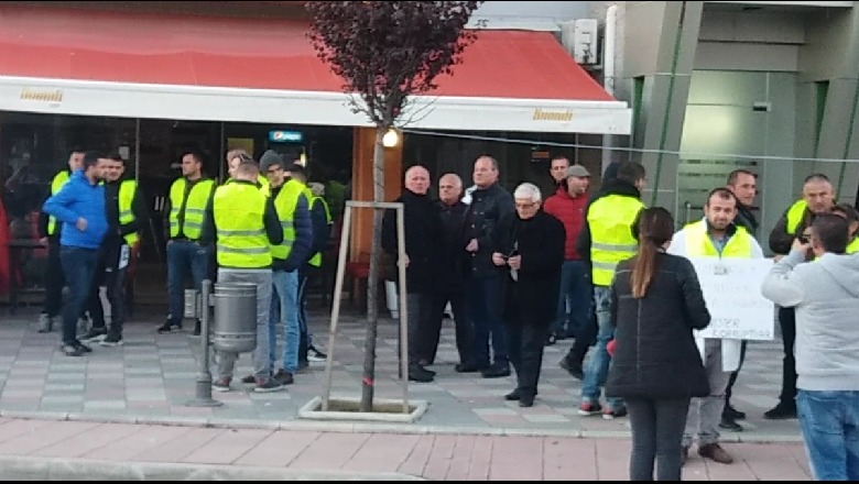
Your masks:
{"label": "black jacket of the bald man just right of the tree trunk", "polygon": [[[438,208],[426,195],[416,195],[404,190],[394,201],[403,204],[405,222],[405,254],[409,266],[405,268],[405,285],[409,293],[427,293],[439,284],[443,272],[444,234]],[[396,262],[396,211],[387,210],[382,220],[382,249]],[[394,274],[399,272],[394,271]],[[394,277],[395,278],[395,277]]]}

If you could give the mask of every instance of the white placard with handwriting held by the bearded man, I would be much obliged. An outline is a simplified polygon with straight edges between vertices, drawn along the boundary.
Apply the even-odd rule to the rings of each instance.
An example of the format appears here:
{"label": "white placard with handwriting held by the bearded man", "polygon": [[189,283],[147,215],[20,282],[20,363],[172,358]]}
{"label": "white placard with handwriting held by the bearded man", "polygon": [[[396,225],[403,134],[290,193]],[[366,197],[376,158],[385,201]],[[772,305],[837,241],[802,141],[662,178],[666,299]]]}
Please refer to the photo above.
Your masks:
{"label": "white placard with handwriting held by the bearded man", "polygon": [[710,326],[704,338],[770,341],[774,305],[761,295],[773,262],[769,258],[689,257],[698,273]]}

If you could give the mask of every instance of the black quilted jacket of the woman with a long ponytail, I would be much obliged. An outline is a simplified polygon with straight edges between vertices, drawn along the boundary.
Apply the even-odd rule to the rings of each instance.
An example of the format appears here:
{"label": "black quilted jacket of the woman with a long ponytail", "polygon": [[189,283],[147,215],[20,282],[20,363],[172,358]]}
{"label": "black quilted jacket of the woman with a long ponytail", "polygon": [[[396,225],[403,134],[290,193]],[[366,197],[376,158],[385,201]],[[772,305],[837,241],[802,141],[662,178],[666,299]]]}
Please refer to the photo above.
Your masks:
{"label": "black quilted jacket of the woman with a long ponytail", "polygon": [[660,253],[646,295],[632,298],[632,261],[618,265],[611,286],[615,355],[606,395],[621,398],[684,398],[709,395],[693,329],[710,323],[695,267]]}

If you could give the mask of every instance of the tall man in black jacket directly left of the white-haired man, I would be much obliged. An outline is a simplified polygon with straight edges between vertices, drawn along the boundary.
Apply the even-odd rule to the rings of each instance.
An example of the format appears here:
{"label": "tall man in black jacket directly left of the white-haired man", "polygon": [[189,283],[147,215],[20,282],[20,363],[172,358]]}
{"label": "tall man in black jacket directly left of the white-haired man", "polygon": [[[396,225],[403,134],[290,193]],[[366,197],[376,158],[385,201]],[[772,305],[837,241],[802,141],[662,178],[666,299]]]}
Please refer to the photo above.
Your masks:
{"label": "tall man in black jacket directly left of the white-haired man", "polygon": [[[513,197],[498,184],[498,162],[480,156],[475,162],[474,182],[466,221],[466,305],[475,324],[470,362],[456,366],[459,373],[481,372],[485,378],[510,376],[504,326],[500,315],[500,273],[492,264],[492,240],[500,220],[515,212]],[[489,339],[492,339],[490,364]]]}

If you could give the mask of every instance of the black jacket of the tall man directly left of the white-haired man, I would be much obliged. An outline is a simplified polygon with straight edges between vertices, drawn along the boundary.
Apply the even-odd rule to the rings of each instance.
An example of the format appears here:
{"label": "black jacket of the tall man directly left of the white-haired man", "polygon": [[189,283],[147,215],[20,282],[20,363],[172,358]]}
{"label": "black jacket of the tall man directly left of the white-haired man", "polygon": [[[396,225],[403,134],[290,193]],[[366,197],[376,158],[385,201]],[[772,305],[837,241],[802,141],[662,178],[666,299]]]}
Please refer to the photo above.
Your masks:
{"label": "black jacket of the tall man directly left of the white-haired man", "polygon": [[469,271],[472,277],[492,277],[498,271],[492,264],[492,241],[498,222],[515,213],[513,196],[494,184],[471,194],[466,221],[466,244],[477,239],[477,252],[471,253]]}

